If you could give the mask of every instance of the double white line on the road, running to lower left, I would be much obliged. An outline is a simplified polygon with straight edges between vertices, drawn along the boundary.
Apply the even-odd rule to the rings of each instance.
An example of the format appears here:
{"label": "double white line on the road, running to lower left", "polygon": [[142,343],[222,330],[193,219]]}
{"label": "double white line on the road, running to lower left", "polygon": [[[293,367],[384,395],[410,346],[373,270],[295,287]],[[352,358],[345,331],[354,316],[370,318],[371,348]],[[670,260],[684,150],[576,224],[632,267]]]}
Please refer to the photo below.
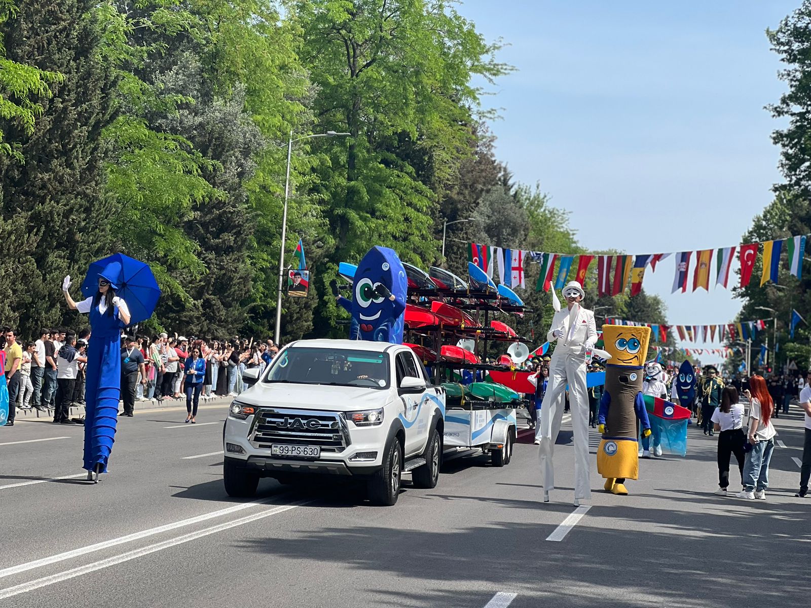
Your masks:
{"label": "double white line on the road, running to lower left", "polygon": [[[90,572],[96,572],[97,570],[101,570],[105,567],[115,566],[118,563],[127,562],[131,559],[136,559],[144,555],[155,553],[156,551],[169,549],[169,547],[182,545],[184,542],[191,542],[197,538],[208,536],[209,534],[221,532],[230,528],[236,528],[238,525],[249,524],[252,521],[276,515],[277,513],[290,511],[290,509],[301,507],[302,505],[311,502],[311,500],[298,501],[296,503],[272,507],[258,513],[252,513],[251,515],[241,517],[238,520],[226,521],[223,524],[214,525],[210,528],[198,530],[197,532],[190,532],[183,534],[182,536],[169,538],[167,541],[157,542],[154,545],[148,545],[141,547],[140,549],[127,551],[127,553],[114,555],[113,557],[107,559],[101,559],[98,562],[88,563],[86,566],[75,567],[71,570],[66,570],[65,572],[58,572],[57,574],[45,576],[41,579],[31,580],[28,583],[16,584],[15,586],[7,589],[0,589],[0,600],[6,599],[6,597],[19,595],[20,593],[27,593],[28,591],[33,591],[34,589],[40,589],[41,587],[45,587],[49,584],[61,583],[63,580],[69,580],[75,578],[76,576],[83,576]],[[504,604],[504,606],[507,606],[507,604]]]}

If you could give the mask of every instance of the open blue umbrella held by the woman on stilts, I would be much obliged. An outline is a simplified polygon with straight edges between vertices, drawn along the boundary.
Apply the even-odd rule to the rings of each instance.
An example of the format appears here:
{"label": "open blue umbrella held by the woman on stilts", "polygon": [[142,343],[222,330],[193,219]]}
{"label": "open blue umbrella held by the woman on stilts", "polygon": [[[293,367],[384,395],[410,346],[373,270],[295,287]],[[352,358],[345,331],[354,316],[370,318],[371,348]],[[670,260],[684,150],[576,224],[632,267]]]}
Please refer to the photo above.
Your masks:
{"label": "open blue umbrella held by the woman on stilts", "polygon": [[109,274],[110,264],[118,264],[118,280],[116,277],[106,276],[115,285],[115,293],[130,309],[130,323],[140,323],[152,316],[157,306],[157,299],[161,297],[161,289],[157,286],[155,275],[147,264],[124,254],[113,254],[105,259],[90,264],[88,276],[84,277],[82,293],[90,298],[98,291],[98,279],[102,272]]}

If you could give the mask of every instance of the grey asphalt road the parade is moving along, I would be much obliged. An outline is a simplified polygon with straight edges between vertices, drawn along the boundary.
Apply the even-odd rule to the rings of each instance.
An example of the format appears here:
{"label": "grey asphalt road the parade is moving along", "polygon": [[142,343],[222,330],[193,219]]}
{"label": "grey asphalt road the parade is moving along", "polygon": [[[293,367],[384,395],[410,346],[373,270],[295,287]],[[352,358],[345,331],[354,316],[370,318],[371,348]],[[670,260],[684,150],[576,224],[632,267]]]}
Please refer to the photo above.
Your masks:
{"label": "grey asphalt road the parade is moving along", "polygon": [[[593,464],[594,499],[579,510],[565,423],[563,489],[548,504],[531,443],[504,469],[450,460],[435,489],[406,483],[394,507],[345,486],[269,480],[255,501],[229,499],[225,413],[203,406],[191,426],[185,409],[136,411],[119,421],[95,486],[80,469],[82,427],[18,417],[0,428],[0,608],[809,605],[796,406],[775,421],[786,447],[775,449],[766,502],[712,495],[715,442],[691,428],[687,457],[642,460],[629,496],[603,493]],[[594,430],[590,443],[594,453]]]}

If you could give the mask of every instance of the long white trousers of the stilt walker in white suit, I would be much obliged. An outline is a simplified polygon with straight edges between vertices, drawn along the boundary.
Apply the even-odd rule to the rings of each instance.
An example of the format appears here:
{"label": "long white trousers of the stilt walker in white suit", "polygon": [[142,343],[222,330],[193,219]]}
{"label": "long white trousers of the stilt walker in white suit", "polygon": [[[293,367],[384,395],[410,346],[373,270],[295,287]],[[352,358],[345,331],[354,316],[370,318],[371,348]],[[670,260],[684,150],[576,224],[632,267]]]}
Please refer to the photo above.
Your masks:
{"label": "long white trousers of the stilt walker in white suit", "polygon": [[586,357],[565,354],[552,356],[549,366],[547,392],[543,396],[538,423],[541,445],[541,485],[544,490],[555,489],[555,465],[552,455],[563,418],[564,391],[569,384],[569,405],[574,430],[574,498],[591,499],[589,480],[589,398],[586,393]]}

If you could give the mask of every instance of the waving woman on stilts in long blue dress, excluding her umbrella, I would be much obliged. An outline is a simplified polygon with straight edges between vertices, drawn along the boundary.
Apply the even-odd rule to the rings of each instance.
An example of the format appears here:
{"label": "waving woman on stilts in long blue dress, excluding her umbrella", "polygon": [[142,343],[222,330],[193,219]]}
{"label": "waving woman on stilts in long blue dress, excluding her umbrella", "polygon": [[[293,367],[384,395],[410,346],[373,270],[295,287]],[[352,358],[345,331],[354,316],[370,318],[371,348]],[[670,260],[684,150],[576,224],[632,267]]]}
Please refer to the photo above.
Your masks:
{"label": "waving woman on stilts in long blue dress, excluding her umbrella", "polygon": [[98,274],[98,291],[90,298],[74,302],[71,277],[62,282],[67,306],[90,315],[90,343],[85,371],[84,469],[88,481],[97,482],[107,472],[113,449],[118,400],[121,396],[121,330],[130,323],[127,302],[115,290],[122,285],[122,267],[111,262]]}

